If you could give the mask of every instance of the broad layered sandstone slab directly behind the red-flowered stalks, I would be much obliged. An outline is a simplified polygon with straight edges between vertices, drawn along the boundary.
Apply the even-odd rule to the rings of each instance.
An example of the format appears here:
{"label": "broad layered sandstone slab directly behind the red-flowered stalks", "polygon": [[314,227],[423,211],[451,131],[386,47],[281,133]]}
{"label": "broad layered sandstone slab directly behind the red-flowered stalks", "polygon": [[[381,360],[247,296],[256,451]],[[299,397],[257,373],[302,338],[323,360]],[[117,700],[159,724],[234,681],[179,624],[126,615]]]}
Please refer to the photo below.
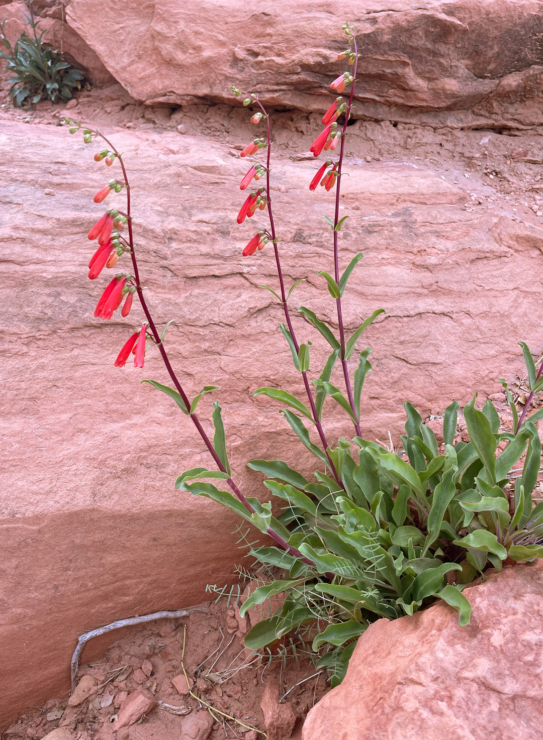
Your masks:
{"label": "broad layered sandstone slab directly behind the red-flowered stalks", "polygon": [[[259,289],[276,285],[273,255],[241,256],[264,223],[256,215],[236,224],[247,162],[203,137],[106,130],[130,171],[147,301],[159,323],[176,320],[165,341],[187,392],[220,388],[213,397],[224,405],[236,482],[249,494],[263,490],[244,468],[252,457],[282,457],[309,473],[313,461],[278,406],[251,396],[259,386],[299,392],[300,384],[276,329],[279,306]],[[158,353],[147,352],[143,371],[113,367],[141,312],[93,317],[108,278],[87,280],[85,233],[102,212],[93,194],[116,174],[93,152],[67,129],[1,125],[0,724],[67,691],[79,634],[199,602],[241,559],[236,517],[173,490],[176,475],[210,458],[173,402],[139,383],[168,382]],[[287,280],[308,277],[293,307],[333,321],[316,277],[330,270],[322,214],[333,206],[323,189],[307,190],[315,169],[275,161],[276,224]],[[344,297],[345,321],[354,329],[376,307],[387,311],[360,343],[373,346],[374,366],[362,427],[371,439],[386,441],[390,430],[397,441],[405,399],[438,414],[453,397],[491,394],[496,376],[522,366],[519,339],[540,346],[541,288],[526,276],[539,274],[543,235],[507,212],[464,210],[464,190],[420,164],[350,155],[347,169],[342,264],[359,249],[365,256]],[[295,322],[300,340],[314,342],[319,371],[325,348]],[[201,415],[209,430],[210,401]],[[351,430],[332,413],[325,431],[333,440]]]}

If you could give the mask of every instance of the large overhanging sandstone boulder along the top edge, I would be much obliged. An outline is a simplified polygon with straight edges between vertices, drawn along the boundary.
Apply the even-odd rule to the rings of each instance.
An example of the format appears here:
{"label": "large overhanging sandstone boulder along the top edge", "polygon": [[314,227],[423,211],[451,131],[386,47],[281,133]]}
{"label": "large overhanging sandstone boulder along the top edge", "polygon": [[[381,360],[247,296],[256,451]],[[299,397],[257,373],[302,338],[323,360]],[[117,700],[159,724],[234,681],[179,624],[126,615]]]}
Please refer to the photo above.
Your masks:
{"label": "large overhanging sandstone boulder along the top edge", "polygon": [[354,115],[430,126],[543,123],[542,0],[71,0],[67,22],[136,100],[231,100],[230,85],[323,111],[359,31]]}

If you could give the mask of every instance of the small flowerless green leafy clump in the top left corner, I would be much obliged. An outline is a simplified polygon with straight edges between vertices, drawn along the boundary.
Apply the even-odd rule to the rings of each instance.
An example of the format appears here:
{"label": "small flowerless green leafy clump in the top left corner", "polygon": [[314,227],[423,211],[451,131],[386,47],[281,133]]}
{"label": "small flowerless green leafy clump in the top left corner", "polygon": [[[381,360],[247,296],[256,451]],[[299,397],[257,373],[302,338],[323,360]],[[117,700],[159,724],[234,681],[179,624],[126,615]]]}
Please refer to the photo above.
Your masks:
{"label": "small flowerless green leafy clump in the top left corner", "polygon": [[0,25],[0,41],[6,49],[0,52],[0,58],[5,59],[5,69],[13,75],[8,79],[10,101],[19,108],[28,108],[47,98],[53,103],[70,100],[72,90],[81,89],[83,73],[70,67],[59,52],[44,46],[44,32],[39,36],[36,32],[39,21],[32,16],[26,18],[34,38],[21,33],[13,47],[4,36],[4,23]]}

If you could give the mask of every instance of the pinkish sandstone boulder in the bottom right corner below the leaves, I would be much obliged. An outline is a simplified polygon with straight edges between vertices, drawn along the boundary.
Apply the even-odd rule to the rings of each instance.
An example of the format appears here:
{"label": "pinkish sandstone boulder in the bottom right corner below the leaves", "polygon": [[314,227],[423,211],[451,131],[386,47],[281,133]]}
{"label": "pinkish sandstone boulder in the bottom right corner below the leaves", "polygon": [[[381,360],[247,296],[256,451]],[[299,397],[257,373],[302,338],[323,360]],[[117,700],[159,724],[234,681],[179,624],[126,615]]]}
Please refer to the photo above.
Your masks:
{"label": "pinkish sandstone boulder in the bottom right corner below the leaves", "polygon": [[464,594],[467,627],[444,604],[370,625],[342,684],[307,716],[303,740],[539,740],[541,563]]}

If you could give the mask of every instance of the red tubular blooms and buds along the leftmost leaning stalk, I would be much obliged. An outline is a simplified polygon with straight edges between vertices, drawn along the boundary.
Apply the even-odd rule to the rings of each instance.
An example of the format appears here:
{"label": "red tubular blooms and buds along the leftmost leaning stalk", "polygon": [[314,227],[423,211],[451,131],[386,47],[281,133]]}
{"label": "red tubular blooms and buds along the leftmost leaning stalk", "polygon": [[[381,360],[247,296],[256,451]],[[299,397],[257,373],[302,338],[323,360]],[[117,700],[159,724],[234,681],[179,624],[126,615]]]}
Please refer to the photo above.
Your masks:
{"label": "red tubular blooms and buds along the leftmost leaning stalk", "polygon": [[[70,133],[72,134],[75,134],[81,129],[81,124],[71,121],[69,118],[66,119],[66,122],[70,124]],[[98,135],[99,133],[96,131],[83,129],[83,141],[85,144],[90,144],[93,138],[96,138]],[[111,152],[109,149],[101,149],[94,155],[96,162],[105,160],[107,166],[111,166],[116,158],[119,158],[119,154],[117,152]],[[125,186],[124,183],[113,178],[96,193],[93,201],[95,203],[101,203],[112,190],[114,192],[121,192]],[[104,267],[114,267],[124,252],[131,251],[130,243],[119,234],[121,229],[126,226],[127,221],[128,218],[126,215],[119,213],[116,209],[110,208],[89,230],[87,234],[88,238],[91,241],[98,240],[98,249],[96,249],[96,252],[94,252],[89,261],[90,280],[96,280]],[[114,231],[113,229],[116,230]],[[127,317],[130,314],[136,290],[136,283],[134,283],[132,275],[119,272],[108,283],[106,289],[101,294],[96,304],[94,315],[97,318],[110,319],[124,301],[121,308],[121,316]],[[144,365],[146,339],[147,323],[144,323],[141,325],[141,329],[138,332],[134,332],[130,339],[124,343],[115,360],[115,366],[123,367],[131,353],[134,355],[134,367],[142,368]]]}

